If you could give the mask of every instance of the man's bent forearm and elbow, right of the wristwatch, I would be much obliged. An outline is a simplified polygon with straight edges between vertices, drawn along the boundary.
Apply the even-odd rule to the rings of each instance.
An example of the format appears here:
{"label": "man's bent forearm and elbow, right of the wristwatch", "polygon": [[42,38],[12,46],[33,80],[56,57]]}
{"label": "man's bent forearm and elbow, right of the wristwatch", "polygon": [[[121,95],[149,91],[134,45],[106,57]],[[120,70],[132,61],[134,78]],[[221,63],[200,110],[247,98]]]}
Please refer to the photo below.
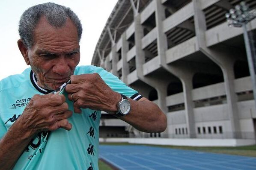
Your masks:
{"label": "man's bent forearm and elbow, right of the wristwatch", "polygon": [[163,132],[167,126],[167,118],[155,104],[142,98],[139,101],[129,99],[131,111],[128,115],[120,117],[121,120],[131,124],[143,132]]}

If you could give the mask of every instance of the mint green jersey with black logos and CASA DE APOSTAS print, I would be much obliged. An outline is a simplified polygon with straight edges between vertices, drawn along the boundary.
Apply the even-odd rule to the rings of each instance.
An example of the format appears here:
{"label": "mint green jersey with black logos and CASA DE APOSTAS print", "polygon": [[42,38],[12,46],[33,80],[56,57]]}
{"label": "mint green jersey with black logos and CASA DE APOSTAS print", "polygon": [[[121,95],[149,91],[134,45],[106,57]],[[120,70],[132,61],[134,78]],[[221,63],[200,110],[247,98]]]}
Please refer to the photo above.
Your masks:
{"label": "mint green jersey with black logos and CASA DE APOSTAS print", "polygon": [[[113,74],[101,67],[77,66],[74,75],[98,73],[113,91],[138,100],[141,96]],[[0,138],[24,111],[35,94],[51,91],[36,84],[36,76],[30,68],[18,75],[0,81]],[[74,112],[73,102],[64,93],[69,110]],[[98,170],[98,138],[101,111],[82,109],[82,114],[73,113],[68,121],[70,131],[57,129],[41,132],[15,164],[14,170]]]}

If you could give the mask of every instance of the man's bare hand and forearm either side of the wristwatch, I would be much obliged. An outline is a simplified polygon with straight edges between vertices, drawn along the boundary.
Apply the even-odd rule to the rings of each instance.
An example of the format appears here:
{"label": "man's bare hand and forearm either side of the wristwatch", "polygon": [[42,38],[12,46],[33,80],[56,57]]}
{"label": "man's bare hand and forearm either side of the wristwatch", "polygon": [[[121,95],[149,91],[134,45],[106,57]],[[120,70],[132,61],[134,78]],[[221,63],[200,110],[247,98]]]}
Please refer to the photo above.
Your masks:
{"label": "man's bare hand and forearm either side of the wristwatch", "polygon": [[[106,85],[98,73],[71,76],[71,84],[68,84],[65,90],[68,99],[74,101],[76,113],[82,112],[80,108],[90,108],[115,114],[116,104],[121,99],[121,95]],[[163,132],[166,129],[167,118],[155,103],[145,97],[139,101],[130,98],[128,100],[131,103],[131,111],[119,119],[142,132]]]}

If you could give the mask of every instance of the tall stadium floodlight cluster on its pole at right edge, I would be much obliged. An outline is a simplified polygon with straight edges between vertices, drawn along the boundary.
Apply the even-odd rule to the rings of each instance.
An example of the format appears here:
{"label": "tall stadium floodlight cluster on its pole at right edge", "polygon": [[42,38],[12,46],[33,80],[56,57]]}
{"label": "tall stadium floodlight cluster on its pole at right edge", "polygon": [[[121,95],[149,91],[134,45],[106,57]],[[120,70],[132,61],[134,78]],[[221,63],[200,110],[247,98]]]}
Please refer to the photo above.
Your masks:
{"label": "tall stadium floodlight cluster on its pole at right edge", "polygon": [[239,5],[235,6],[235,9],[230,9],[225,14],[228,26],[243,27],[244,32],[244,44],[247,54],[247,61],[250,70],[250,76],[253,83],[253,97],[256,106],[256,55],[253,55],[253,51],[256,52],[254,47],[251,47],[253,40],[249,38],[246,24],[256,18],[256,10],[250,10],[249,6],[242,1]]}

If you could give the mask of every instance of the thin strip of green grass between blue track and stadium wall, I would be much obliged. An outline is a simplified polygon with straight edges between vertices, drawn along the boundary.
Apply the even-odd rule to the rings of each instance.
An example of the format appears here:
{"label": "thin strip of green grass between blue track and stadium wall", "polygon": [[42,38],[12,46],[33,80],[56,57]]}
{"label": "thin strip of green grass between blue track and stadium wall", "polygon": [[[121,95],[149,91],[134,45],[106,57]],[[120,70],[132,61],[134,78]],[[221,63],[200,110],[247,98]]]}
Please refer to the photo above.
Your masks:
{"label": "thin strip of green grass between blue track and stadium wall", "polygon": [[[134,145],[128,143],[101,143],[101,145]],[[256,145],[244,146],[244,147],[182,147],[182,146],[163,146],[163,145],[148,145],[148,144],[136,144],[136,145],[145,145],[152,147],[164,147],[172,149],[184,149],[184,150],[195,150],[200,152],[214,152],[214,153],[223,153],[230,155],[243,155],[243,156],[252,156],[256,157]]]}

